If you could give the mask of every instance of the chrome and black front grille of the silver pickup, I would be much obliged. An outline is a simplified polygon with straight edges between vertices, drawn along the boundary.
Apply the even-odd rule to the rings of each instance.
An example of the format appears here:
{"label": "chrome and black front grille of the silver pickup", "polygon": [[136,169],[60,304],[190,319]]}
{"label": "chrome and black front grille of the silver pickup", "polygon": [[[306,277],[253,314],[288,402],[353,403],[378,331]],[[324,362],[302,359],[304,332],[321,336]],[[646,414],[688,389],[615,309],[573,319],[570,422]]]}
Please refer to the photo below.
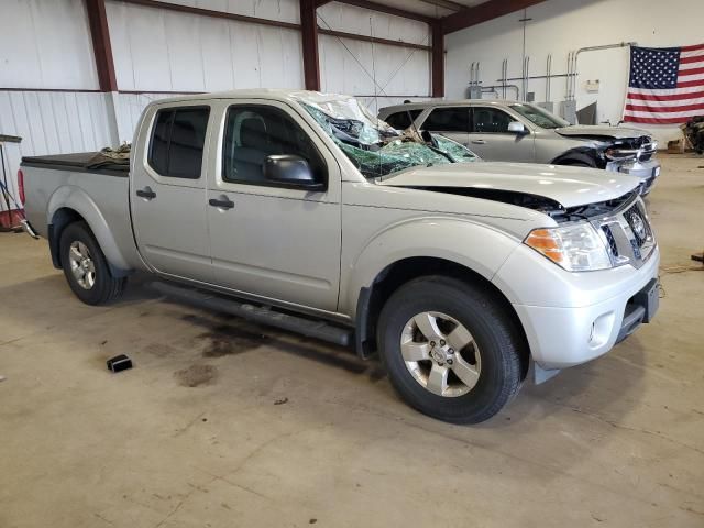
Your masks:
{"label": "chrome and black front grille of the silver pickup", "polygon": [[613,213],[594,219],[592,224],[602,234],[615,266],[631,264],[640,267],[656,248],[656,239],[640,198],[629,200]]}

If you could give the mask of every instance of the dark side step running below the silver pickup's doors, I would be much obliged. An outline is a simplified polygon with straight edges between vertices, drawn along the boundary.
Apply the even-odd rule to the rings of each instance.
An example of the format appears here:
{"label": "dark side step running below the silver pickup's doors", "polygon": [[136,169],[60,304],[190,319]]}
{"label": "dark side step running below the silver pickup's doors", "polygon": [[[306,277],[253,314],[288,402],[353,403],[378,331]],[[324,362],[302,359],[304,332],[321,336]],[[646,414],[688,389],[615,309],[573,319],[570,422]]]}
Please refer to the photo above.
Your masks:
{"label": "dark side step running below the silver pickup's doors", "polygon": [[154,282],[150,287],[162,295],[199,308],[222,311],[252,322],[280,328],[341,346],[350,346],[353,342],[353,330],[336,327],[328,322],[289,316],[271,308],[176,284]]}

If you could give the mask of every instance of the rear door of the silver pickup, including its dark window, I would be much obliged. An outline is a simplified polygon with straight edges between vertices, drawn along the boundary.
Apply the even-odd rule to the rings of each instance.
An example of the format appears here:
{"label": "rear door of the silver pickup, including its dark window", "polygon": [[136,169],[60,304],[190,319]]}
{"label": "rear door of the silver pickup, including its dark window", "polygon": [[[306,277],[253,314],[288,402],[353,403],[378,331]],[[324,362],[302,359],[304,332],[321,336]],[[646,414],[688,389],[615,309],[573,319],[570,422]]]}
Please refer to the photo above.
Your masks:
{"label": "rear door of the silver pickup, including its dark window", "polygon": [[131,210],[138,248],[156,271],[212,282],[206,211],[210,106],[154,107],[132,170]]}

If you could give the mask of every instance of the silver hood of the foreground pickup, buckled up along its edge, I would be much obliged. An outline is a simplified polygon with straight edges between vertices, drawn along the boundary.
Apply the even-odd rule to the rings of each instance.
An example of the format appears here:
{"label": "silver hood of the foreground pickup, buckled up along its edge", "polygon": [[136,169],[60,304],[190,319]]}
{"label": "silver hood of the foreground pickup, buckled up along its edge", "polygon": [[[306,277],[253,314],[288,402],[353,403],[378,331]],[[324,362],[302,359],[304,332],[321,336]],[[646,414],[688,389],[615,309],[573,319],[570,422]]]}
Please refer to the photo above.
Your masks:
{"label": "silver hood of the foreground pickup, buckled up along its edge", "polygon": [[388,187],[479,188],[542,196],[576,207],[612,200],[635,189],[639,179],[597,168],[535,163],[475,162],[418,167],[376,180]]}

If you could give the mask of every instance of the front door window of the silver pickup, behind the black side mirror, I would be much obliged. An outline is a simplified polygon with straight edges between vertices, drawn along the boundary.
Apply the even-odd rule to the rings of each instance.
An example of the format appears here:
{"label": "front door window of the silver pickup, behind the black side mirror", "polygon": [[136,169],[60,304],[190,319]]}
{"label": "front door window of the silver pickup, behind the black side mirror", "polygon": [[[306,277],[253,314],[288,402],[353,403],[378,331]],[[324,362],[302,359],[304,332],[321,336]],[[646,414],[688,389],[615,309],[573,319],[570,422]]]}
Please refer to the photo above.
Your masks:
{"label": "front door window of the silver pickup, behind the black side mirror", "polygon": [[230,107],[224,131],[222,179],[275,185],[264,175],[266,158],[275,154],[302,157],[316,179],[324,182],[322,155],[308,134],[286,112],[275,107],[255,105]]}

